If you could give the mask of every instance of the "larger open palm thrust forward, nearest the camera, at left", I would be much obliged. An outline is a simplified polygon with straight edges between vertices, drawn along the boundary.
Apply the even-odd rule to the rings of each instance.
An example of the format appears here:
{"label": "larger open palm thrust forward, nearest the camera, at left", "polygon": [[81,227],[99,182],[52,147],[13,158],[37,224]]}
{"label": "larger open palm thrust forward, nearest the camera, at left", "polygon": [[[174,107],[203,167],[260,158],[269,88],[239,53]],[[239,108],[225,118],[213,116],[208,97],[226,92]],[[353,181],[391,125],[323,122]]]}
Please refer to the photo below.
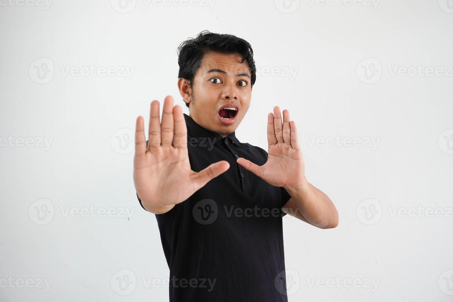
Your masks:
{"label": "larger open palm thrust forward, nearest the camera, at left", "polygon": [[135,125],[135,190],[143,207],[154,214],[170,211],[230,168],[230,164],[222,160],[198,173],[192,171],[186,121],[181,107],[173,107],[173,97],[165,98],[162,124],[159,118],[159,101],[152,101],[148,147],[143,117],[139,116]]}

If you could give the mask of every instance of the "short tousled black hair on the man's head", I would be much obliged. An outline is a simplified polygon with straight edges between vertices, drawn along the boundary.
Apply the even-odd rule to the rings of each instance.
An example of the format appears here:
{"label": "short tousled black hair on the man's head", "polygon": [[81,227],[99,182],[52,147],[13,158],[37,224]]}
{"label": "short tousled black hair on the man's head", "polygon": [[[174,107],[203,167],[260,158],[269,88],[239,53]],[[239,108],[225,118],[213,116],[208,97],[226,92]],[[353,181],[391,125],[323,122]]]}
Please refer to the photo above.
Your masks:
{"label": "short tousled black hair on the man's head", "polygon": [[[189,38],[178,46],[178,78],[189,81],[192,88],[193,78],[200,67],[201,60],[207,52],[225,54],[237,53],[242,56],[241,63],[246,61],[251,73],[251,86],[256,81],[256,67],[253,60],[253,50],[246,40],[232,34],[216,34],[203,30],[195,38]],[[185,103],[185,102],[184,102]],[[189,103],[185,103],[189,107]]]}

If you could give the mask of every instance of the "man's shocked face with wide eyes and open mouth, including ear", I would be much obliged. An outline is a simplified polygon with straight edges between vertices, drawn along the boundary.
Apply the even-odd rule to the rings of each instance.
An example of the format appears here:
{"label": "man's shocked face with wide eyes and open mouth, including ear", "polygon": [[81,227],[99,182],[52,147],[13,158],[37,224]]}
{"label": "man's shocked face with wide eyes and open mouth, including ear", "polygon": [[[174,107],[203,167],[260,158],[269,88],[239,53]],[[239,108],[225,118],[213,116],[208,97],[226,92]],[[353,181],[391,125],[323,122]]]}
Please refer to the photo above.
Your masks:
{"label": "man's shocked face with wide eyes and open mouth, including ear", "polygon": [[178,80],[181,96],[190,102],[189,116],[218,134],[236,130],[249,109],[252,86],[246,62],[237,54],[205,53],[192,89]]}

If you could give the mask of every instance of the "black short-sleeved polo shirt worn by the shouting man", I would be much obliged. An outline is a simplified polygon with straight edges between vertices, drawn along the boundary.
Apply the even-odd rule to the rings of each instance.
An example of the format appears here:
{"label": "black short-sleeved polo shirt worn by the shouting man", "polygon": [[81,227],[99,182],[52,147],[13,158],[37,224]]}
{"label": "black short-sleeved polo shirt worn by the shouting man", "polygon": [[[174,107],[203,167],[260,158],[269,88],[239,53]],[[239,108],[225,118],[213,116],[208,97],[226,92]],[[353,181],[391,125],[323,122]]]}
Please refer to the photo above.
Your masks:
{"label": "black short-sleeved polo shirt worn by the shouting man", "polygon": [[184,118],[192,170],[220,160],[230,168],[155,215],[170,268],[170,302],[288,301],[281,208],[290,196],[236,163],[243,157],[263,165],[267,152],[241,143],[234,132],[222,138]]}

